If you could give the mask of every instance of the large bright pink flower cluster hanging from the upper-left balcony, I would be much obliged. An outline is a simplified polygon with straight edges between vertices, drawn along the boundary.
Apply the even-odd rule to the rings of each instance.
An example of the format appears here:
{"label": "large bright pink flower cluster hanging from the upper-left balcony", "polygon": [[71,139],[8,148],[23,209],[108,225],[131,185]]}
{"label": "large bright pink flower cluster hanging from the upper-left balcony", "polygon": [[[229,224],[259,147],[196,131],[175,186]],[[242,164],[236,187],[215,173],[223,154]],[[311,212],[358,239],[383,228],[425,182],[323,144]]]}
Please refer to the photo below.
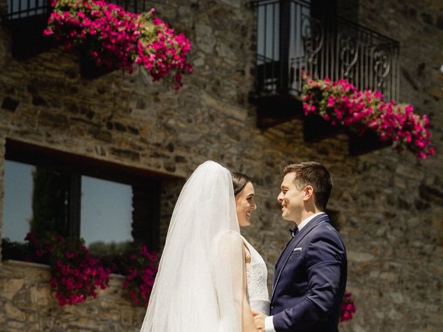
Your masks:
{"label": "large bright pink flower cluster hanging from the upper-left balcony", "polygon": [[53,12],[44,35],[64,39],[66,49],[86,46],[96,66],[134,70],[145,66],[154,81],[173,76],[174,89],[182,74],[191,73],[187,62],[191,45],[149,12],[135,14],[102,0],[52,0]]}

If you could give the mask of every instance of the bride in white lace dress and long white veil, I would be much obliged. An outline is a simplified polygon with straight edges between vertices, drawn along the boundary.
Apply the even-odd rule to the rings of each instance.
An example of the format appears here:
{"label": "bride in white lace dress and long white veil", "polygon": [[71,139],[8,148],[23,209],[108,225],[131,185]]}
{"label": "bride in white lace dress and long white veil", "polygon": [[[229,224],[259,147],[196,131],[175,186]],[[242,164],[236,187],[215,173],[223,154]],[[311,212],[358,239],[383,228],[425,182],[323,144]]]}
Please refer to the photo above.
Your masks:
{"label": "bride in white lace dress and long white veil", "polygon": [[253,332],[269,314],[266,265],[239,234],[251,179],[207,161],[181,190],[141,332]]}

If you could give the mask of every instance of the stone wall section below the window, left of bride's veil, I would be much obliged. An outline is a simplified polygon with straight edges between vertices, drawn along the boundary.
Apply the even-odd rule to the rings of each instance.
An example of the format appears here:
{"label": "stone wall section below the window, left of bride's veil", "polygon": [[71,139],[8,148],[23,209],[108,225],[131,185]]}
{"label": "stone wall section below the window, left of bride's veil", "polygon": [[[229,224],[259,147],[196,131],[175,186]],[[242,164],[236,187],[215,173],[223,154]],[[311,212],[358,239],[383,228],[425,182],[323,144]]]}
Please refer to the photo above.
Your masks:
{"label": "stone wall section below the window, left of bride's veil", "polygon": [[0,273],[0,331],[140,331],[145,309],[123,298],[123,277],[78,306],[60,307],[48,287],[49,268],[7,262]]}

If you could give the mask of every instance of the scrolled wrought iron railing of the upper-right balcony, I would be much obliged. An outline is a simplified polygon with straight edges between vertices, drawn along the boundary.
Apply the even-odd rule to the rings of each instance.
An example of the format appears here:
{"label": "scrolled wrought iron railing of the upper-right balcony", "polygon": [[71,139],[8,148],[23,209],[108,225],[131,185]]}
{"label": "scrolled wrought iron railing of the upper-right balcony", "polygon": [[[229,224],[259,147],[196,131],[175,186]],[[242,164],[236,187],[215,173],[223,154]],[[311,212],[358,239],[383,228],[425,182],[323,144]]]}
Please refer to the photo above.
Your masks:
{"label": "scrolled wrought iron railing of the upper-right balcony", "polygon": [[317,19],[309,1],[260,0],[257,10],[257,93],[299,95],[302,70],[345,78],[359,89],[399,97],[399,43],[341,17]]}

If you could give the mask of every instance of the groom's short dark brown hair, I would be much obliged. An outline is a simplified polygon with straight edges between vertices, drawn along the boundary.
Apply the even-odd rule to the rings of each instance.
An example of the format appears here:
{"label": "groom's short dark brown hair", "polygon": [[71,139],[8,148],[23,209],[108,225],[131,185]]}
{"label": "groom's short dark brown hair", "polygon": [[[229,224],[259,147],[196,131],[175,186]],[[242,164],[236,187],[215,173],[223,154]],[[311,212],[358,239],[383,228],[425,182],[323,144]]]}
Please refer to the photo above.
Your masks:
{"label": "groom's short dark brown hair", "polygon": [[325,166],[314,161],[304,161],[284,167],[284,175],[295,173],[296,187],[302,190],[307,185],[314,188],[314,204],[319,210],[325,211],[332,190],[332,178]]}

